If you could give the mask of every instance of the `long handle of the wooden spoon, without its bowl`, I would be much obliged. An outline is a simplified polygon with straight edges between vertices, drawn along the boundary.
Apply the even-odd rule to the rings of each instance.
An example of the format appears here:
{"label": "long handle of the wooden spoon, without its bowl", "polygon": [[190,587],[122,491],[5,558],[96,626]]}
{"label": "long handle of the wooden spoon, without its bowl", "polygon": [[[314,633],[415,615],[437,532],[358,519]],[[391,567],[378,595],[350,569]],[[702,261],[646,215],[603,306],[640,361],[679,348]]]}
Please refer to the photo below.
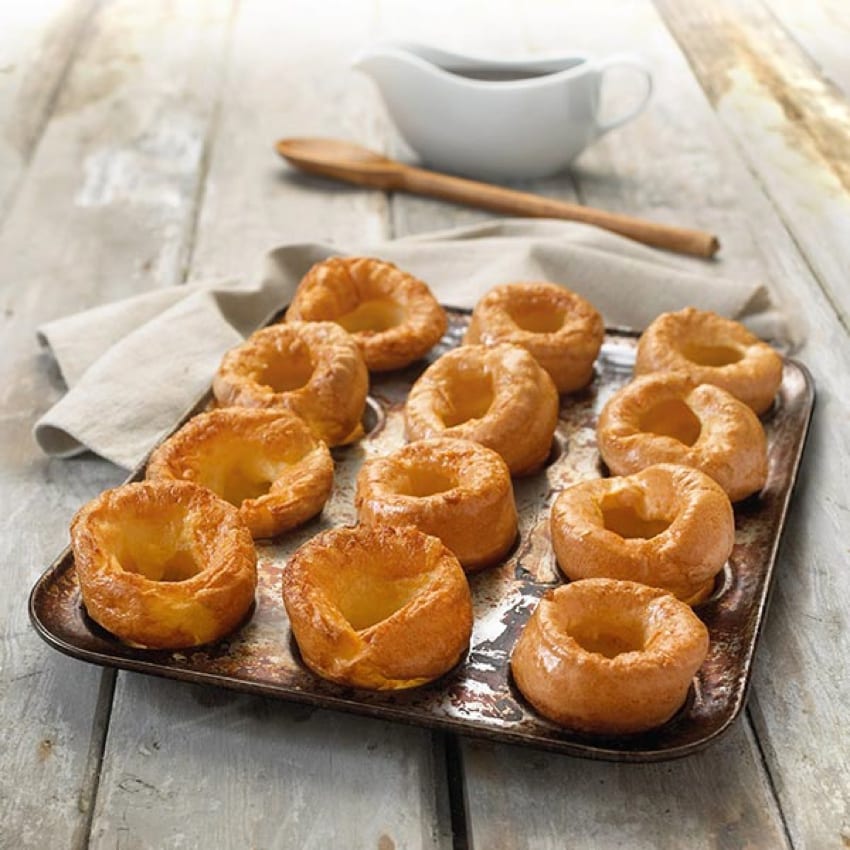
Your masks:
{"label": "long handle of the wooden spoon, without its bowl", "polygon": [[530,192],[518,192],[491,183],[480,183],[404,165],[400,168],[395,188],[417,195],[430,195],[446,201],[482,207],[494,212],[534,218],[565,218],[594,224],[644,245],[666,248],[681,254],[712,257],[720,247],[717,237],[701,230],[659,224],[622,213],[557,201]]}

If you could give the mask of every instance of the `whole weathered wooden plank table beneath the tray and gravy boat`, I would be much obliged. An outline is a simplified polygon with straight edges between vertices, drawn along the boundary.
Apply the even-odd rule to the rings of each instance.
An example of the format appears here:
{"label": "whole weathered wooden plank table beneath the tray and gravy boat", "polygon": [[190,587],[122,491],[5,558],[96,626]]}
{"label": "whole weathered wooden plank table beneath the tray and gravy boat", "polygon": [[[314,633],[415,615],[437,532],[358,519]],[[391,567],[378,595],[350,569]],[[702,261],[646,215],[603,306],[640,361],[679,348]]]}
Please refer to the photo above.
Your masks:
{"label": "whole weathered wooden plank table beneath the tray and gravy boat", "polygon": [[[124,472],[49,460],[45,320],[271,246],[484,218],[287,172],[286,135],[398,142],[356,48],[642,53],[650,108],[524,185],[718,233],[709,273],[769,281],[818,401],[745,716],[677,762],[616,765],[72,661],[30,586]],[[0,846],[850,846],[850,13],[844,0],[53,0],[0,12]],[[698,262],[698,261],[694,261]]]}

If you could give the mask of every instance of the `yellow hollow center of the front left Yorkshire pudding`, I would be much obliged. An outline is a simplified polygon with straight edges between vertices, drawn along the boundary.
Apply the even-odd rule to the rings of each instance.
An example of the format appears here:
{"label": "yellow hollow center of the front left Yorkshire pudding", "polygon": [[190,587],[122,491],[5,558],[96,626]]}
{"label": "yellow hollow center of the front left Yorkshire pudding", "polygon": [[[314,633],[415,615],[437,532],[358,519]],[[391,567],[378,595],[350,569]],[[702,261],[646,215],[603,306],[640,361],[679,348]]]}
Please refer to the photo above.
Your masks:
{"label": "yellow hollow center of the front left Yorkshire pudding", "polygon": [[158,582],[185,581],[201,572],[203,565],[186,548],[176,527],[180,518],[170,520],[135,519],[122,523],[113,552],[125,572]]}

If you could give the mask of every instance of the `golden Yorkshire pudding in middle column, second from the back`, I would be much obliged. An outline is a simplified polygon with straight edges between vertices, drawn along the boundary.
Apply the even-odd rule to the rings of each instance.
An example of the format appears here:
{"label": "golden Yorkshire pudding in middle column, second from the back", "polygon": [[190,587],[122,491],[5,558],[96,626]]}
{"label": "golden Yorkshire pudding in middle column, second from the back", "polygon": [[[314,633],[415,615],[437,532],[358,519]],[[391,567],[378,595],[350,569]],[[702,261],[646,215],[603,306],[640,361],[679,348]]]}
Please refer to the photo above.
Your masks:
{"label": "golden Yorkshire pudding in middle column, second from the back", "polygon": [[409,440],[474,440],[498,452],[512,475],[528,475],[549,455],[558,391],[524,348],[464,345],[422,373],[404,415]]}

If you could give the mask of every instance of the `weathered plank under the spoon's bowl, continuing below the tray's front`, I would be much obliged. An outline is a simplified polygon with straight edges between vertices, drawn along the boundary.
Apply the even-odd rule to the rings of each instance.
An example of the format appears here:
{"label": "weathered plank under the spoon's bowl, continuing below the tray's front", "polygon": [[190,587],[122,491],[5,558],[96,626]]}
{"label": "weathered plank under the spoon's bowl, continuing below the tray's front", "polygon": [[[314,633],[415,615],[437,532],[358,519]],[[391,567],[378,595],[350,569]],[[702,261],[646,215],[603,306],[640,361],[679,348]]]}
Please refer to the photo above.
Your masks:
{"label": "weathered plank under the spoon's bowl, continuing below the tray's front", "polygon": [[[235,21],[195,279],[247,277],[281,242],[387,235],[382,195],[289,177],[273,152],[310,133],[383,147],[385,121],[347,71],[370,18],[345,2],[270,8],[242,3]],[[121,674],[92,846],[447,847],[439,756],[425,730]]]}

